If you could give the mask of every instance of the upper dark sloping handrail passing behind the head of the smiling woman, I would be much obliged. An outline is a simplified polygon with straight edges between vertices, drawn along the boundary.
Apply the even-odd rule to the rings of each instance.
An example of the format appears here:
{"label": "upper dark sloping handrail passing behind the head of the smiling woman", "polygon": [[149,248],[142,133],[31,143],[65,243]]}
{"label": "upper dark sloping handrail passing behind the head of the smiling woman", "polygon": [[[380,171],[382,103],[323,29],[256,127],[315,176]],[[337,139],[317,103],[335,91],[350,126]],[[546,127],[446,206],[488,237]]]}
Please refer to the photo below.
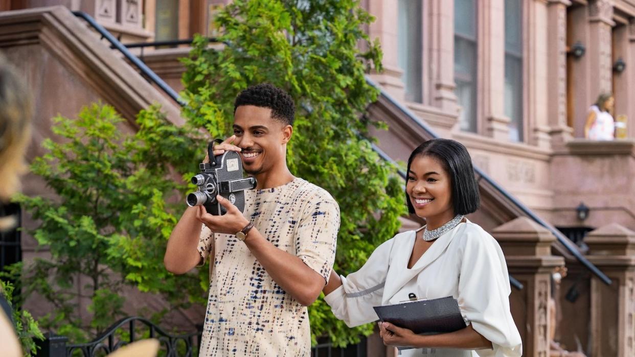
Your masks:
{"label": "upper dark sloping handrail passing behind the head of the smiling woman", "polygon": [[[410,109],[404,107],[398,101],[394,100],[394,98],[392,98],[390,94],[386,93],[383,89],[381,89],[372,79],[370,79],[369,77],[366,77],[366,81],[369,84],[371,84],[371,86],[379,89],[381,91],[380,96],[382,96],[385,100],[391,103],[391,105],[394,106],[394,108],[396,108],[397,110],[399,110],[402,114],[406,115],[406,117],[408,117],[413,123],[417,124],[417,126],[423,129],[425,133],[427,133],[431,138],[439,138],[439,136],[436,133],[434,133],[431,127],[425,124],[425,122],[423,122],[422,120],[418,119],[417,115],[413,114],[413,112],[411,112]],[[512,196],[511,193],[505,190],[502,186],[498,185],[496,181],[491,179],[490,176],[485,174],[485,172],[481,171],[481,169],[474,166],[474,171],[476,172],[476,175],[478,176],[479,181],[484,180],[486,183],[488,183],[488,185],[493,187],[498,193],[500,193],[500,195],[505,197],[505,199],[507,199],[508,202],[514,205],[519,211],[523,212],[523,214],[529,217],[532,221],[540,224],[544,228],[547,228],[547,230],[551,231],[551,233],[554,236],[556,236],[556,238],[558,239],[558,242],[561,243],[565,247],[565,249],[568,250],[573,255],[573,257],[575,257],[575,259],[577,259],[580,263],[582,263],[582,265],[584,265],[585,268],[589,269],[594,275],[598,276],[598,278],[602,280],[603,282],[605,282],[606,285],[611,285],[611,279],[608,278],[608,276],[606,276],[605,273],[602,273],[602,271],[598,269],[597,266],[594,266],[588,259],[586,259],[580,253],[580,251],[578,250],[578,247],[573,242],[571,242],[569,238],[565,237],[565,235],[563,235],[561,231],[554,228],[554,226],[547,223],[547,221],[544,221],[544,219],[538,217],[538,215],[535,214],[533,211],[531,211],[529,207],[527,207],[525,204],[523,204],[518,199],[516,199],[516,197]]]}

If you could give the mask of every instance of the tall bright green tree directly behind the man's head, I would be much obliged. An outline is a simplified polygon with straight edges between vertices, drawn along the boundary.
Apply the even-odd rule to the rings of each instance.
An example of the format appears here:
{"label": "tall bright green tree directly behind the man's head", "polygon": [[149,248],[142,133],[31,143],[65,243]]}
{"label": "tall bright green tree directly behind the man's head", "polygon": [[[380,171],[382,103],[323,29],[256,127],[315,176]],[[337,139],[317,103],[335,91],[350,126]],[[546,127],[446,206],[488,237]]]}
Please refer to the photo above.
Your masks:
{"label": "tall bright green tree directly behind the man's head", "polygon": [[[295,131],[288,146],[291,172],[328,190],[340,205],[335,269],[358,269],[399,228],[404,213],[395,168],[371,148],[363,115],[377,99],[364,74],[381,70],[381,51],[364,32],[373,19],[358,1],[237,0],[220,11],[221,50],[197,37],[184,60],[185,115],[213,136],[228,136],[236,94],[271,82],[293,96]],[[319,299],[311,306],[313,338],[342,346],[373,326],[349,329]]]}

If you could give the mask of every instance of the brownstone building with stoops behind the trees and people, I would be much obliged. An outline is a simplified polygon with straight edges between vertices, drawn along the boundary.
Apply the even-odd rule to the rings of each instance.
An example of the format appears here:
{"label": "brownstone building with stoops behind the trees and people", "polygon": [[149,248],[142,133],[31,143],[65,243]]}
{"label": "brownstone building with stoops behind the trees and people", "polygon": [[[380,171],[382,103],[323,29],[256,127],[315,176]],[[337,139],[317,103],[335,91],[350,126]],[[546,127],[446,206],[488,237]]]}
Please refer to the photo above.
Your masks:
{"label": "brownstone building with stoops behind the trees and people", "polygon": [[[182,122],[175,101],[70,11],[88,13],[130,44],[213,37],[213,14],[224,3],[0,0],[0,52],[36,97],[29,157],[42,153],[37,143],[50,136],[51,117],[75,115],[91,101],[110,103],[130,120],[157,101]],[[635,1],[361,6],[377,18],[368,32],[384,50],[385,71],[370,75],[383,91],[370,114],[390,128],[375,133],[378,148],[406,160],[434,134],[469,148],[483,195],[471,219],[497,238],[522,285],[512,289],[511,304],[525,355],[566,355],[554,352],[553,340],[588,356],[635,356]],[[177,58],[187,55],[187,44],[131,51],[181,89]],[[51,91],[51,84],[66,90]],[[613,115],[625,130],[617,140],[585,140],[589,107],[605,92],[613,93]],[[37,178],[26,181],[27,193],[47,194]],[[404,229],[415,224],[404,217]],[[22,259],[32,259],[34,244],[22,236]],[[552,278],[564,275],[563,266],[558,286]],[[34,303],[33,310],[45,307]],[[173,318],[193,325],[200,314]],[[369,355],[394,353],[377,342],[368,339]]]}

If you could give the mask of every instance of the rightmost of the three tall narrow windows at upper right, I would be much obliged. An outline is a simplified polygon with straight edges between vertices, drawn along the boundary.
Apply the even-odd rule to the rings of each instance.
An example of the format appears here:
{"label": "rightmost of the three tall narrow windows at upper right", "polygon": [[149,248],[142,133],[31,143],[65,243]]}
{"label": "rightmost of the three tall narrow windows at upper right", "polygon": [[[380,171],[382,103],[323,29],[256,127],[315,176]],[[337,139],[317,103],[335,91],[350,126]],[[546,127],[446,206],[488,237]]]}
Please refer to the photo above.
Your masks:
{"label": "rightmost of the three tall narrow windows at upper right", "polygon": [[505,0],[505,115],[511,120],[511,141],[523,141],[522,5],[522,0]]}

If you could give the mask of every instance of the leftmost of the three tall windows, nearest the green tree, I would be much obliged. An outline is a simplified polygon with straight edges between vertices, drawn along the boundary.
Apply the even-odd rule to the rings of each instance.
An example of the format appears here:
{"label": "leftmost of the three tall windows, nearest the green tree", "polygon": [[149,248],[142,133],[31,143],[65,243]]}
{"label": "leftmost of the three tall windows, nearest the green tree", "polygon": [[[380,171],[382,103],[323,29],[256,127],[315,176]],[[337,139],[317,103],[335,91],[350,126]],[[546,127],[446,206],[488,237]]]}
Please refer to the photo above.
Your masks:
{"label": "leftmost of the three tall windows, nearest the green tree", "polygon": [[406,100],[421,103],[422,95],[422,1],[399,0],[397,60],[403,70]]}

